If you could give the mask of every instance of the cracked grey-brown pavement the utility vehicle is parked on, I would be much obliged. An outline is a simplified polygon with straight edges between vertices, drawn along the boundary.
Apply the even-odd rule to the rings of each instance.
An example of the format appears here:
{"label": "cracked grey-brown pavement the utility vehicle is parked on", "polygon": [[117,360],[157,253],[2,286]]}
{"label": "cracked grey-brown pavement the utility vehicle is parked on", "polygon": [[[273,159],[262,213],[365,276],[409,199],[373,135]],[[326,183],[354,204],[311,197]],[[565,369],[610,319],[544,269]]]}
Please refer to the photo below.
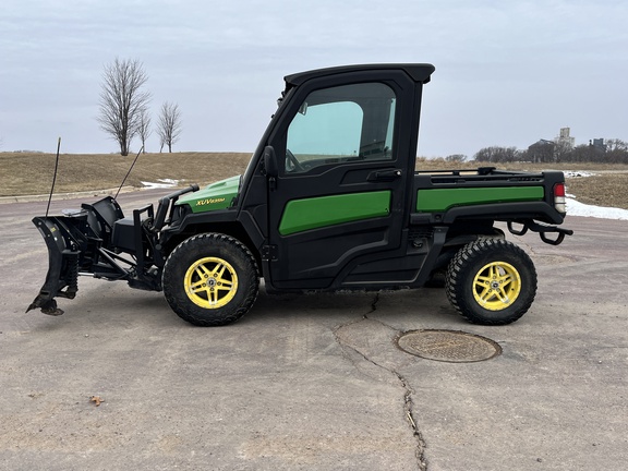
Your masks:
{"label": "cracked grey-brown pavement the utility vehicle is parked on", "polygon": [[[90,278],[63,316],[25,314],[47,270],[31,224],[45,209],[0,205],[1,470],[626,469],[627,221],[568,218],[558,247],[509,237],[539,273],[509,326],[470,325],[422,289],[262,292],[241,322],[198,328],[160,293]],[[503,353],[424,360],[394,343],[414,329]]]}

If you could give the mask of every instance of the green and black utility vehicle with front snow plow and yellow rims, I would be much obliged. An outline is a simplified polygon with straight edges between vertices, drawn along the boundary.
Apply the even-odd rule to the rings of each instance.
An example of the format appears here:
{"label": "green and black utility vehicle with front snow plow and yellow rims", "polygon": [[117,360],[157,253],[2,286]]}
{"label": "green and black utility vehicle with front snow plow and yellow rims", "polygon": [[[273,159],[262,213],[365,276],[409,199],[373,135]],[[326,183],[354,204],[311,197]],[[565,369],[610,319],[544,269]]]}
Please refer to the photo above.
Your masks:
{"label": "green and black utility vehicle with front snow plow and yellow rims", "polygon": [[[244,174],[162,197],[124,217],[106,197],[33,219],[49,252],[31,309],[59,315],[77,277],[162,290],[198,326],[232,323],[268,293],[420,288],[445,273],[456,310],[507,324],[530,307],[536,273],[505,240],[559,244],[561,172],[416,171],[431,64],[349,65],[288,75]],[[496,226],[497,224],[497,226]]]}

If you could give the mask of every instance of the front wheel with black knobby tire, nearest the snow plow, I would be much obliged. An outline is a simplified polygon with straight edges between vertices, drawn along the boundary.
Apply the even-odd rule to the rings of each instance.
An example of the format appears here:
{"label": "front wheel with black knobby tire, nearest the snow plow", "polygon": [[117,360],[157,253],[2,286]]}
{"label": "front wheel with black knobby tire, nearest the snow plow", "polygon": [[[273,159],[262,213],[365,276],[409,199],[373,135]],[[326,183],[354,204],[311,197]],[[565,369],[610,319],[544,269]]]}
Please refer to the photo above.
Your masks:
{"label": "front wheel with black knobby tire, nearest the snow plow", "polygon": [[237,239],[203,233],[181,242],[164,266],[164,294],[182,319],[201,327],[241,318],[259,289],[257,264]]}

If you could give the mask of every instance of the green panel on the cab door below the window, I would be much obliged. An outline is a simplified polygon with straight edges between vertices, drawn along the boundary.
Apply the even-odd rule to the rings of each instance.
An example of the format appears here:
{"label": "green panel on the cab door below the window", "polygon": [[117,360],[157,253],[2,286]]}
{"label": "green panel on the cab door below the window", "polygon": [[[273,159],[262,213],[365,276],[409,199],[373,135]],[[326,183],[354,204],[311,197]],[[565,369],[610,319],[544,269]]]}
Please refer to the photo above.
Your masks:
{"label": "green panel on the cab door below the window", "polygon": [[286,205],[281,222],[279,222],[279,233],[289,235],[389,214],[390,191],[294,200]]}

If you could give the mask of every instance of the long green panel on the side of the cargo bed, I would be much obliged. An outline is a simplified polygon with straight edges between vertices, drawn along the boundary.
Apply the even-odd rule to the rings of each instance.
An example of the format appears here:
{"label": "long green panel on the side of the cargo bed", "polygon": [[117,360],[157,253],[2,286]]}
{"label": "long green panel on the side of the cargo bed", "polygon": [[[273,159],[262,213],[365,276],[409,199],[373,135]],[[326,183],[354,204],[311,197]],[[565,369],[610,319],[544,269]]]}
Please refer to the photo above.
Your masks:
{"label": "long green panel on the side of the cargo bed", "polygon": [[456,188],[419,190],[419,213],[442,213],[452,206],[470,206],[487,203],[541,201],[543,186]]}

